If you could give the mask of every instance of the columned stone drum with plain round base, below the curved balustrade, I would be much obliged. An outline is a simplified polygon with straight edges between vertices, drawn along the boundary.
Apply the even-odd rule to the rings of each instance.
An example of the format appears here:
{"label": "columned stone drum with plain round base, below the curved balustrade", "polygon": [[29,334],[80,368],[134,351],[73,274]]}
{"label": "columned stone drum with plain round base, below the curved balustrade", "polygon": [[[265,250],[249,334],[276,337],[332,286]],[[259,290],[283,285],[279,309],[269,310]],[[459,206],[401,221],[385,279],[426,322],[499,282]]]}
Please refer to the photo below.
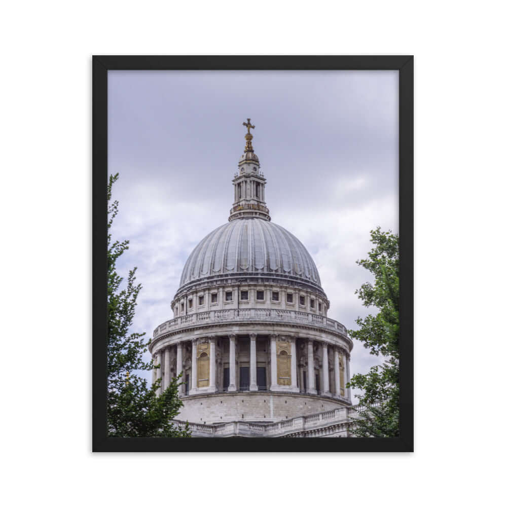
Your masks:
{"label": "columned stone drum with plain round base, below the curved balustrade", "polygon": [[[164,382],[178,369],[183,371],[184,419],[218,423],[237,419],[241,413],[244,420],[272,422],[295,417],[302,408],[313,413],[350,405],[348,339],[337,340],[322,331],[282,334],[281,328],[280,333],[252,329],[259,332],[234,332],[229,325],[222,333],[210,334],[214,330],[205,328],[200,335],[191,333],[191,339],[179,334],[151,345],[156,362],[162,365],[156,372],[160,371]],[[254,393],[270,397],[269,410],[259,396],[251,397]],[[219,394],[216,400],[209,398]],[[209,400],[206,403],[203,395]],[[283,395],[285,401],[280,403]],[[218,402],[220,406],[213,408]]]}

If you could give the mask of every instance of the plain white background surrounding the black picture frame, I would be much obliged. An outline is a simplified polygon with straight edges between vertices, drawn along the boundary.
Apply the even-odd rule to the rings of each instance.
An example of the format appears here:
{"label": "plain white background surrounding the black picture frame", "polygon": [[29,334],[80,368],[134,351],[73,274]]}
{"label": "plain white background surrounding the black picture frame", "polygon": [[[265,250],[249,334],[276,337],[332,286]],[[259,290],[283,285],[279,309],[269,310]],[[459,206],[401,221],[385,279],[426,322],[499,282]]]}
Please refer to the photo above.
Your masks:
{"label": "plain white background surrounding the black picture frame", "polygon": [[[4,7],[6,504],[192,505],[197,480],[213,504],[225,481],[245,505],[501,501],[503,20],[490,1]],[[90,453],[94,53],[416,55],[414,454]]]}

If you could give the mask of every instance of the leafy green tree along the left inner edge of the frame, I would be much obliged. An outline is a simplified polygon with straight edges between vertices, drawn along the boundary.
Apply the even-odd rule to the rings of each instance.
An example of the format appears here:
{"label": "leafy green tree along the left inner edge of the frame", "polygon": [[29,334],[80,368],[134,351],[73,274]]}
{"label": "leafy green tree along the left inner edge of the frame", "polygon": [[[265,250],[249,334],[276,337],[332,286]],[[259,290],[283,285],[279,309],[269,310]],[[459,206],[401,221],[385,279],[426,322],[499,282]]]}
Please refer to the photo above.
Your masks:
{"label": "leafy green tree along the left inner edge of the frame", "polygon": [[183,429],[173,423],[183,406],[173,379],[157,396],[161,380],[152,386],[135,374],[139,370],[160,368],[142,359],[148,350],[146,333],[129,333],[134,318],[140,284],[135,284],[134,268],[129,271],[126,287],[116,272],[116,262],[128,249],[129,241],[112,241],[111,226],[118,213],[118,201],[111,203],[113,184],[118,174],[110,176],[107,185],[107,434],[109,437],[190,437],[188,424]]}

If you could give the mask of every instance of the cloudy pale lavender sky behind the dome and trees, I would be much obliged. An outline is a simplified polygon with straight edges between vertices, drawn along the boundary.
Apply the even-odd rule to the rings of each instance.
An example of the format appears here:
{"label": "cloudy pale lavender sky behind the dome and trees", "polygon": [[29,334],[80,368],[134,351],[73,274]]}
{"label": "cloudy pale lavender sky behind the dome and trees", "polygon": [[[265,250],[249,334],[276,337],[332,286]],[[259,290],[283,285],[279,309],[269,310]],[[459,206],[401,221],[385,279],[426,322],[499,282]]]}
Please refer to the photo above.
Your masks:
{"label": "cloudy pale lavender sky behind the dome and trees", "polygon": [[[109,71],[108,167],[120,173],[119,272],[142,283],[134,329],[151,337],[197,243],[225,224],[243,153],[242,123],[267,178],[274,223],[313,257],[328,316],[355,329],[355,264],[369,231],[398,231],[397,71]],[[374,310],[373,310],[374,311]],[[378,359],[354,343],[351,374]],[[147,375],[147,378],[151,377]]]}

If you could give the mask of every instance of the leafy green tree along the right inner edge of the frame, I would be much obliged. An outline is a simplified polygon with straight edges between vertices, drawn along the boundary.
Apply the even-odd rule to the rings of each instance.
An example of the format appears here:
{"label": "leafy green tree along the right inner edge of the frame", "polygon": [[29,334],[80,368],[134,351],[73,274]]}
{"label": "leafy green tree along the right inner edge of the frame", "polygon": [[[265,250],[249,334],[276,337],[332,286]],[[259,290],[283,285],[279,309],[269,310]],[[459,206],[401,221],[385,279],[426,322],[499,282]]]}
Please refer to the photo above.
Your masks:
{"label": "leafy green tree along the right inner edge of the frame", "polygon": [[399,383],[399,301],[400,301],[400,248],[399,237],[377,227],[371,233],[373,248],[368,259],[357,261],[370,271],[374,283],[366,282],[355,292],[366,307],[379,310],[376,315],[357,318],[359,329],[350,336],[363,342],[373,355],[384,361],[373,366],[366,374],[354,375],[348,384],[363,390],[356,395],[363,418],[352,431],[357,437],[398,437],[400,420]]}

